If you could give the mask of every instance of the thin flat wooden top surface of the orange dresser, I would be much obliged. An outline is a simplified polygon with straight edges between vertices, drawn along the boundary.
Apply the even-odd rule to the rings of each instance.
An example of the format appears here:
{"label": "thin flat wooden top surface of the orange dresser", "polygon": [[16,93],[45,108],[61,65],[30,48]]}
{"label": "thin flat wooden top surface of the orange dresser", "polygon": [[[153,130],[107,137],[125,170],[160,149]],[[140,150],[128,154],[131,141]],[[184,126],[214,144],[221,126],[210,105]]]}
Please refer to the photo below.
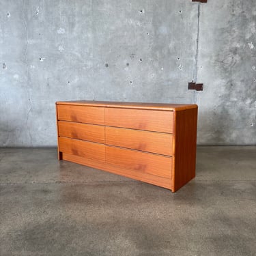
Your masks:
{"label": "thin flat wooden top surface of the orange dresser", "polygon": [[182,111],[185,109],[195,109],[197,104],[167,104],[167,103],[140,103],[140,102],[111,102],[94,100],[59,101],[56,104],[76,105],[76,106],[101,106],[106,108],[122,109],[151,109],[162,111]]}

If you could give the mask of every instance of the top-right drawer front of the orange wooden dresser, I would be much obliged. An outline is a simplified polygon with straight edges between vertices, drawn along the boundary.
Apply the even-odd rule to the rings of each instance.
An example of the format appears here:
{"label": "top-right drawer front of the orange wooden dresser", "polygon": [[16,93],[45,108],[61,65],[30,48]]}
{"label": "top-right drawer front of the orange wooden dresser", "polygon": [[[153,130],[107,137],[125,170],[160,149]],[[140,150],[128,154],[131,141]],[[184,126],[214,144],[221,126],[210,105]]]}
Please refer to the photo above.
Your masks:
{"label": "top-right drawer front of the orange wooden dresser", "polygon": [[173,112],[141,109],[105,109],[106,126],[173,132]]}

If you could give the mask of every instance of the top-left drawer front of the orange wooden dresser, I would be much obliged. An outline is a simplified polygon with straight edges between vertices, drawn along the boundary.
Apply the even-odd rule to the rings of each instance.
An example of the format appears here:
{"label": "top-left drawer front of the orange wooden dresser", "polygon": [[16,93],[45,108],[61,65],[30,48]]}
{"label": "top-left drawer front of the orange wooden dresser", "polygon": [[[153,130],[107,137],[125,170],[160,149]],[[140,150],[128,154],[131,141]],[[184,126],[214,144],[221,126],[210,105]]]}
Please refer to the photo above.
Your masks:
{"label": "top-left drawer front of the orange wooden dresser", "polygon": [[104,125],[104,108],[58,104],[57,117],[63,121]]}

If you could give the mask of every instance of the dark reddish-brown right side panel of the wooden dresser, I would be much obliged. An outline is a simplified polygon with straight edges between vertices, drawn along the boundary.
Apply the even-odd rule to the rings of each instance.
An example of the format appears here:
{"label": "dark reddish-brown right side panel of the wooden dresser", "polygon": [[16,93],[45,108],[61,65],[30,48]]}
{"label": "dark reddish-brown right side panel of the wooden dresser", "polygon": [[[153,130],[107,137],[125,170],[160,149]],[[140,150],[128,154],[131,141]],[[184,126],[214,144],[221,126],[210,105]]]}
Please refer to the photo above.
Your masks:
{"label": "dark reddish-brown right side panel of the wooden dresser", "polygon": [[174,123],[173,192],[195,177],[197,108],[175,111]]}

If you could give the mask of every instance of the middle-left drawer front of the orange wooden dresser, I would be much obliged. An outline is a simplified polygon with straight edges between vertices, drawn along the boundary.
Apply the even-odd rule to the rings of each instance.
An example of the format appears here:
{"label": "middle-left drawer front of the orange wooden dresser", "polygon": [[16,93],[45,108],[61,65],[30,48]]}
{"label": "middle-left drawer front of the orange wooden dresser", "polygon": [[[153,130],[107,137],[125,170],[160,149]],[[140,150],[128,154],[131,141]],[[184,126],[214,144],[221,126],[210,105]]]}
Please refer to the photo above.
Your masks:
{"label": "middle-left drawer front of the orange wooden dresser", "polygon": [[104,143],[104,126],[59,121],[58,128],[62,137]]}

